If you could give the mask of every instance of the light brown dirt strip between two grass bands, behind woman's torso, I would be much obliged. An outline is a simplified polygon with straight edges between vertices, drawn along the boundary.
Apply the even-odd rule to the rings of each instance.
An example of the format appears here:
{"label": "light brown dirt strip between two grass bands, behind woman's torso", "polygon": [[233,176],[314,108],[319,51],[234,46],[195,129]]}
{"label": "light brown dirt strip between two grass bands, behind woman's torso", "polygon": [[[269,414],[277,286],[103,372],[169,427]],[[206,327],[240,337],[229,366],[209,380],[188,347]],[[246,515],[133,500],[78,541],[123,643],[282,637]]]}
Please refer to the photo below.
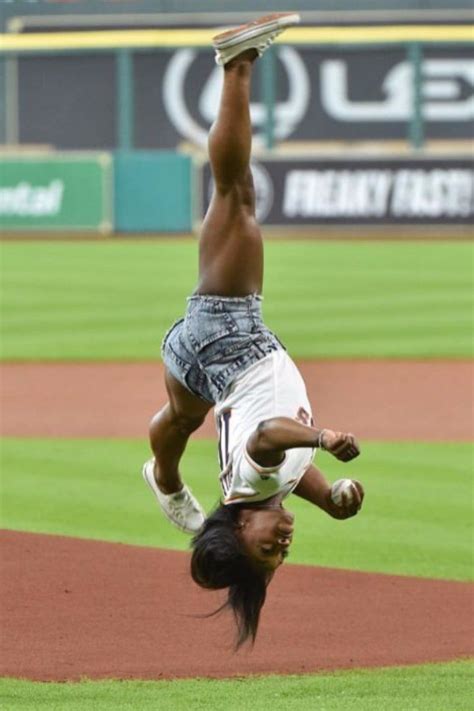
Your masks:
{"label": "light brown dirt strip between two grass bands, behind woman's torso", "polygon": [[[472,364],[300,362],[319,425],[365,439],[470,441]],[[165,402],[159,363],[4,364],[0,433],[143,437]],[[212,418],[199,430],[214,436]]]}

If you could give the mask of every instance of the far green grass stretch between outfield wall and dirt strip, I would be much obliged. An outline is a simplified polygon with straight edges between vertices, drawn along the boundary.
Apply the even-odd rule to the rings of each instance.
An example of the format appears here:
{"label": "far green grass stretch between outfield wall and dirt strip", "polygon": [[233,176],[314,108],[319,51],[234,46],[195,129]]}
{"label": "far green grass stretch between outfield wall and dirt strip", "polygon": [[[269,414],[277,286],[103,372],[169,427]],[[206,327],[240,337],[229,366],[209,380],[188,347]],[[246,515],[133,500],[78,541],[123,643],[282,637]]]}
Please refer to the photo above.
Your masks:
{"label": "far green grass stretch between outfield wall and dirt strip", "polygon": [[[197,279],[196,240],[3,243],[1,355],[148,360]],[[267,242],[264,314],[295,357],[467,357],[472,245]]]}

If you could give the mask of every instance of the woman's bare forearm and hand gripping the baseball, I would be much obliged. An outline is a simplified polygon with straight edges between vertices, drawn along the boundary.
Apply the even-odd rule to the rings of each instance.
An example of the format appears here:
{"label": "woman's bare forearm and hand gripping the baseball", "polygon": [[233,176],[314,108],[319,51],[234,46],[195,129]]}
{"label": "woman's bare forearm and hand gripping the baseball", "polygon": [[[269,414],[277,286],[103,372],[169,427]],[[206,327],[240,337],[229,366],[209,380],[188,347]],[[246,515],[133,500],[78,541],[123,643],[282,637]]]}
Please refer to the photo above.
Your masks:
{"label": "woman's bare forearm and hand gripping the baseball", "polygon": [[352,501],[343,497],[340,506],[331,499],[331,486],[326,477],[313,464],[308,467],[293,493],[325,511],[333,518],[344,519],[355,516],[364,500],[364,489],[359,481],[352,482]]}

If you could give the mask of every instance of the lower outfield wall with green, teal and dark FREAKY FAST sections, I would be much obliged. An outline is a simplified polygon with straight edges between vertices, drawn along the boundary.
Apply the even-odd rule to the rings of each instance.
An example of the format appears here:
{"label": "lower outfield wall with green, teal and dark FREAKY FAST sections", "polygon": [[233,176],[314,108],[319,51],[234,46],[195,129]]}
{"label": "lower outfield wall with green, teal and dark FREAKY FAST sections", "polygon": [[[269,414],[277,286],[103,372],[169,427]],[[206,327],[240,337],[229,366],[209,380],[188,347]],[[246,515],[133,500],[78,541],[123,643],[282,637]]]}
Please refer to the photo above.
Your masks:
{"label": "lower outfield wall with green, teal and dark FREAKY FAST sections", "polygon": [[[263,225],[469,225],[474,215],[466,157],[269,154],[252,170]],[[212,187],[208,163],[173,152],[18,154],[0,163],[0,227],[190,233]]]}

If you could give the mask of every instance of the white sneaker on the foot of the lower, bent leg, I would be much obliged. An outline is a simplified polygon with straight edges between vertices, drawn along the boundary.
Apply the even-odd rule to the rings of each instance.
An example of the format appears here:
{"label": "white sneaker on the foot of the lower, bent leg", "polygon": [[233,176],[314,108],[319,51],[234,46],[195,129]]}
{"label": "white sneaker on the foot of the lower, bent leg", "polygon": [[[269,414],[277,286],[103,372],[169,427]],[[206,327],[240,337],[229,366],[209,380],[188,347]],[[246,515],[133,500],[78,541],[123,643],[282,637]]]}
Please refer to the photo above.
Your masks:
{"label": "white sneaker on the foot of the lower, bent leg", "polygon": [[142,470],[143,478],[158,499],[164,515],[181,531],[197,533],[206,520],[206,514],[200,504],[187,486],[176,494],[163,494],[155,481],[154,468],[154,459],[145,462]]}

